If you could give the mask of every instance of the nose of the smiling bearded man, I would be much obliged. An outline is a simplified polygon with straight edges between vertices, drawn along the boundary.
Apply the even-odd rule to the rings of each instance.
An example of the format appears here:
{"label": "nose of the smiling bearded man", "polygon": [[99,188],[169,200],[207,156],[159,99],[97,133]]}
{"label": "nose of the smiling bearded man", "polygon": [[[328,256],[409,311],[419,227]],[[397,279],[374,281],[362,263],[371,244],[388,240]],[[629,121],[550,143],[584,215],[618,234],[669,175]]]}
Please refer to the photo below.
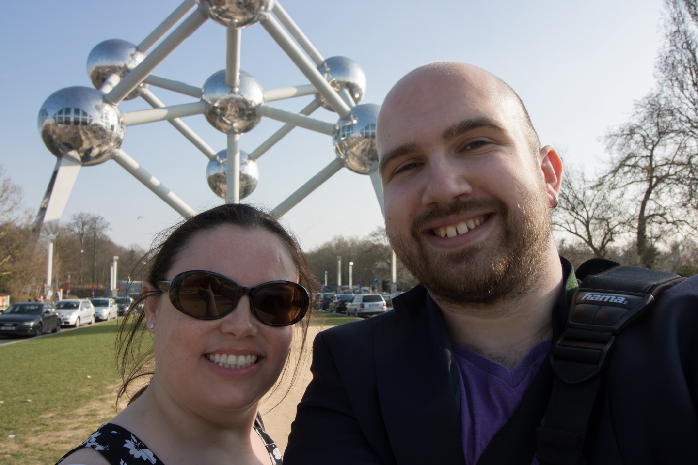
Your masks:
{"label": "nose of the smiling bearded man", "polygon": [[433,156],[429,160],[422,204],[449,204],[456,197],[472,194],[468,172],[461,165],[448,155]]}

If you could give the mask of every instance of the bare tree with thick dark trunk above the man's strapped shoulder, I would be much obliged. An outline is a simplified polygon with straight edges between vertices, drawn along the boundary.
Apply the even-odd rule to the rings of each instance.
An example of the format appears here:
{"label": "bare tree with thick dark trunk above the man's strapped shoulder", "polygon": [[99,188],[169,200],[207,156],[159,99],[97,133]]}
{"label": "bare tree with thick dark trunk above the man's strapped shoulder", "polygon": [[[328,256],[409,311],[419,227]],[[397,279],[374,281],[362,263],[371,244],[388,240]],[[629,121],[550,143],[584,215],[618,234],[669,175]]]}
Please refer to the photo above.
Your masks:
{"label": "bare tree with thick dark trunk above the man's strapped shoulder", "polygon": [[[695,139],[677,125],[674,109],[660,93],[635,103],[630,121],[606,136],[611,166],[602,181],[632,200],[633,229],[642,266],[654,268],[658,244],[695,231],[692,202],[698,162]],[[671,236],[671,237],[669,237]]]}

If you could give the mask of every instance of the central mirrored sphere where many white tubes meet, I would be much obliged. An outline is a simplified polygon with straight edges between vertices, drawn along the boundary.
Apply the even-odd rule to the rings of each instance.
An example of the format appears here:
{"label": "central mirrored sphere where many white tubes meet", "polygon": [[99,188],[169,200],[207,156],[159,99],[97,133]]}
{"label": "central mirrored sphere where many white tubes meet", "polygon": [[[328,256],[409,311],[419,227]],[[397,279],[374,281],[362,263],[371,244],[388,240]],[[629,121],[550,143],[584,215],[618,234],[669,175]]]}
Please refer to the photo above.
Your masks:
{"label": "central mirrored sphere where many white tubes meet", "polygon": [[265,102],[264,90],[257,79],[240,70],[240,85],[225,85],[225,70],[215,73],[204,84],[203,100],[209,104],[206,119],[219,131],[242,134],[259,124],[257,107]]}

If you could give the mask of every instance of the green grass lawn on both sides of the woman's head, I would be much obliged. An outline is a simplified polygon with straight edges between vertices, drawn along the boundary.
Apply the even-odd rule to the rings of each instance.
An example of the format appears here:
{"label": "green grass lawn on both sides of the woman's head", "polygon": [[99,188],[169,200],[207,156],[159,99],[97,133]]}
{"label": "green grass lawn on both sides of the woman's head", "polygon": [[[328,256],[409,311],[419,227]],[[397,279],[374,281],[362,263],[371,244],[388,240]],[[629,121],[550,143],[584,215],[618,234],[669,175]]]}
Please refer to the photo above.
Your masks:
{"label": "green grass lawn on both sides of the woman's head", "polygon": [[[311,324],[356,320],[316,311]],[[53,464],[114,416],[115,405],[105,410],[104,399],[113,404],[120,382],[114,355],[120,323],[0,346],[0,464]]]}

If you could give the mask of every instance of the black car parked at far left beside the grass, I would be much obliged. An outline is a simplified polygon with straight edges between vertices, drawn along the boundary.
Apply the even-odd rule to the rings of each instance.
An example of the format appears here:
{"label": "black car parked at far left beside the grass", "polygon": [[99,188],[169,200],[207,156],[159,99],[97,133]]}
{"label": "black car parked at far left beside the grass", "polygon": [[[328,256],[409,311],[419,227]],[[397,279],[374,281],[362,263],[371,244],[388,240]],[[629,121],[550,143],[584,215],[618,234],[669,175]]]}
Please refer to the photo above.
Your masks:
{"label": "black car parked at far left beside the grass", "polygon": [[0,335],[57,333],[61,319],[50,302],[13,303],[0,315]]}

